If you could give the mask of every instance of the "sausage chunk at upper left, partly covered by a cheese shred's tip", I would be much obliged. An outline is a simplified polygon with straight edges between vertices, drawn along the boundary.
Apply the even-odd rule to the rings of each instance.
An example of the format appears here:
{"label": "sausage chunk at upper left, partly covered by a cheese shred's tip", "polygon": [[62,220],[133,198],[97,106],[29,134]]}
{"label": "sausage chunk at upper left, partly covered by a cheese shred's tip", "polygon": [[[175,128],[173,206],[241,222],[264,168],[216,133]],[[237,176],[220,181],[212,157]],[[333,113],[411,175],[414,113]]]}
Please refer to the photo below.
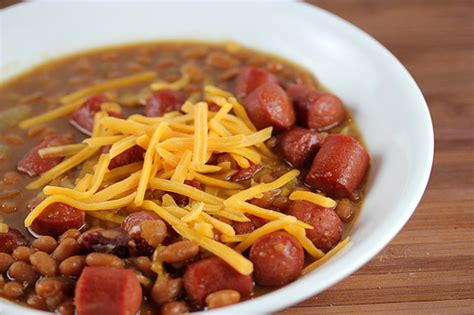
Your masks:
{"label": "sausage chunk at upper left, partly covered by a cheese shred's tip", "polygon": [[17,169],[20,172],[28,174],[29,176],[37,176],[46,172],[47,170],[61,163],[63,157],[42,158],[38,151],[43,148],[56,147],[68,143],[69,141],[66,138],[57,135],[46,136],[43,141],[34,146],[23,157],[23,159],[21,159],[21,161],[18,163]]}

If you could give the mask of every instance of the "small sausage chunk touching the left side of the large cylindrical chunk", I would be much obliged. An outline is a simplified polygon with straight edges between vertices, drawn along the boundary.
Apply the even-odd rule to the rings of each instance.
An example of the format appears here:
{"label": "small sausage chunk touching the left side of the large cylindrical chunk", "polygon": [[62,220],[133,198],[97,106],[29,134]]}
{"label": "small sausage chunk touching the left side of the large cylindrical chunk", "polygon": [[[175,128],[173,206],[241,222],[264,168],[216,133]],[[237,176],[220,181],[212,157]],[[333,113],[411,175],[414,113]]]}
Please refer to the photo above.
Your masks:
{"label": "small sausage chunk touching the left side of the large cylindrical chunk", "polygon": [[293,167],[302,168],[314,159],[323,139],[316,131],[294,127],[281,135],[277,151]]}

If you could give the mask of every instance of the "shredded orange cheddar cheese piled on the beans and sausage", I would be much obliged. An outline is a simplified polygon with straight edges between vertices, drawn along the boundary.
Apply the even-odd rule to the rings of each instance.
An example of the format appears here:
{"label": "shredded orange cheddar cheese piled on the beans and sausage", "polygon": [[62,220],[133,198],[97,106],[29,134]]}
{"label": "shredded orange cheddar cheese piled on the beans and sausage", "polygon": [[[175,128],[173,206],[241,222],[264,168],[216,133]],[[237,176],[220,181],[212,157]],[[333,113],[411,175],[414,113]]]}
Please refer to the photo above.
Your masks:
{"label": "shredded orange cheddar cheese piled on the beans and sausage", "polygon": [[[134,78],[137,77],[140,80],[151,78],[149,74]],[[130,78],[119,80],[130,82]],[[184,84],[186,78],[171,84],[154,83],[151,87],[179,89]],[[25,121],[22,127],[63,116],[77,108],[85,96],[111,87],[117,88],[117,85],[102,84],[73,93],[74,97],[69,95],[63,100],[63,107]],[[219,106],[218,111],[209,111],[211,102]],[[65,156],[65,159],[27,186],[28,189],[43,187],[47,197],[26,217],[26,227],[56,202],[115,223],[123,220],[123,216],[116,213],[117,209],[135,207],[156,213],[183,238],[219,256],[242,274],[252,273],[253,265],[241,253],[262,235],[276,230],[292,234],[315,259],[324,255],[305,235],[305,229],[312,228],[310,225],[248,202],[294,181],[298,170],[293,169],[273,182],[248,188],[228,180],[229,174],[235,172],[230,162],[207,164],[214,153],[228,153],[240,168],[278,159],[265,145],[272,129],[257,131],[245,108],[232,94],[205,86],[203,101],[188,100],[182,105],[182,112],[170,112],[161,117],[138,114],[127,119],[109,117],[105,111],[108,107],[120,108],[115,103],[103,104],[104,111],[95,115],[90,138],[82,143],[40,151],[41,156]],[[136,145],[145,150],[143,161],[108,169],[111,159]],[[108,153],[101,153],[109,146]],[[77,166],[81,171],[74,187],[45,186]],[[197,180],[205,190],[187,185],[185,180]],[[164,194],[161,200],[147,199],[147,191],[152,190],[187,196],[190,203],[180,207],[170,194]],[[324,207],[336,205],[333,200],[312,192],[295,191],[289,198],[308,200]],[[251,233],[236,235],[232,221],[249,221],[246,214],[270,221]],[[218,236],[214,231],[218,231]]]}

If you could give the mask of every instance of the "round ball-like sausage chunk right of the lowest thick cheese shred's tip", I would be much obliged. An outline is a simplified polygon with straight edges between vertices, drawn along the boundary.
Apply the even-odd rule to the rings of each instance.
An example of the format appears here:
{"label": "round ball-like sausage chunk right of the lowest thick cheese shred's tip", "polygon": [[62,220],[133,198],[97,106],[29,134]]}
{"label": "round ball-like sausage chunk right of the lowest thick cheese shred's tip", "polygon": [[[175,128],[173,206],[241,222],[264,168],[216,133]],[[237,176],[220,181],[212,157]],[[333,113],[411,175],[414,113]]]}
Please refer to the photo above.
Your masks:
{"label": "round ball-like sausage chunk right of the lowest thick cheese shred's tip", "polygon": [[264,235],[252,245],[255,282],[263,286],[285,285],[296,280],[303,271],[303,247],[290,234],[277,231]]}

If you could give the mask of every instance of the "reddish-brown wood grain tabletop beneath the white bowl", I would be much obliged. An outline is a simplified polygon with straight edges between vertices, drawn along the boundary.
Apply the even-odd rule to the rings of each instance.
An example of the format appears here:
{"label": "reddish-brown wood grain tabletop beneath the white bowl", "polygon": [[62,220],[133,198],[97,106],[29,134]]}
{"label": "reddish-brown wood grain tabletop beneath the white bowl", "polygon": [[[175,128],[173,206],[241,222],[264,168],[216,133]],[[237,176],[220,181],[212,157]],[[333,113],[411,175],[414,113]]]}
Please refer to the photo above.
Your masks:
{"label": "reddish-brown wood grain tabletop beneath the white bowl", "polygon": [[399,235],[352,276],[278,314],[473,314],[474,1],[311,2],[406,66],[430,108],[435,157],[427,191]]}

